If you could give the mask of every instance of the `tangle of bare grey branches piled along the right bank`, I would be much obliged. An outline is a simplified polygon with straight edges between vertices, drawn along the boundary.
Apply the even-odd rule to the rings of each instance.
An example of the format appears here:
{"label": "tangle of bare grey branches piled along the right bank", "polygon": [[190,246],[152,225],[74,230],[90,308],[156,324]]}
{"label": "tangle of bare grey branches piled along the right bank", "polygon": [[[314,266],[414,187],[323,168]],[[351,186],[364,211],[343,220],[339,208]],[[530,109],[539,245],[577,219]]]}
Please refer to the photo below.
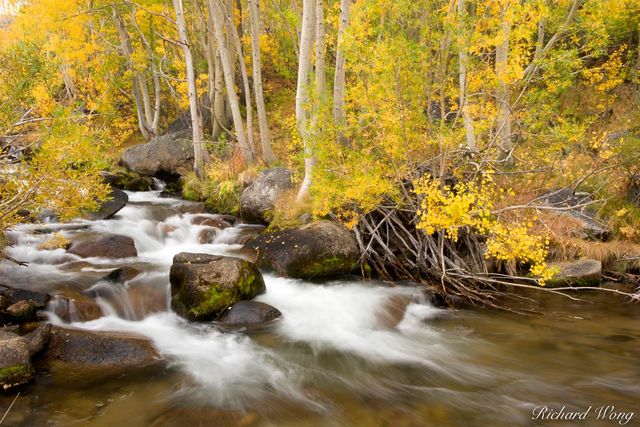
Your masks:
{"label": "tangle of bare grey branches piled along the right bank", "polygon": [[[516,274],[508,274],[490,268],[490,260],[484,257],[483,237],[468,228],[459,230],[457,242],[443,233],[427,235],[416,228],[418,203],[413,193],[405,191],[402,204],[381,205],[361,215],[353,230],[362,254],[363,275],[370,269],[384,280],[409,280],[435,287],[443,296],[461,297],[472,305],[514,312],[523,311],[510,308],[507,301],[529,299],[515,293],[517,288],[579,299],[571,293],[576,288],[544,288],[536,279],[518,274],[517,269],[512,269]],[[595,289],[640,300],[640,294]]]}

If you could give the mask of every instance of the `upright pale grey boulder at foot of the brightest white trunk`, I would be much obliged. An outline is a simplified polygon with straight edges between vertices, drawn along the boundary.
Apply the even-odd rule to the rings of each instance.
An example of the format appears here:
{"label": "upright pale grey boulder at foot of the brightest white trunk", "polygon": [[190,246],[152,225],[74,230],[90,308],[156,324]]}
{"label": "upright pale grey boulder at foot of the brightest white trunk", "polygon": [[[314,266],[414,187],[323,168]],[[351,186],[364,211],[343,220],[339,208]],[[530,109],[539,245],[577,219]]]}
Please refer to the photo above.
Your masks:
{"label": "upright pale grey boulder at foot of the brightest white trunk", "polygon": [[293,188],[291,171],[272,168],[260,175],[244,189],[240,197],[240,215],[247,222],[269,222],[276,199],[283,190]]}

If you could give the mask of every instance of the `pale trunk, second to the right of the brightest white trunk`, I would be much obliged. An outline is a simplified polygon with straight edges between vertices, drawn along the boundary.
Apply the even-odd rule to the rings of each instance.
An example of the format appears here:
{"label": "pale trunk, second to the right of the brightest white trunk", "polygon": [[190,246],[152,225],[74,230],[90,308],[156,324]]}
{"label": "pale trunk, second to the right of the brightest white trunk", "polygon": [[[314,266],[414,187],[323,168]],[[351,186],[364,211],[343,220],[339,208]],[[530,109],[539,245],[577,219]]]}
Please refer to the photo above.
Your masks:
{"label": "pale trunk, second to the right of the brightest white trunk", "polygon": [[338,128],[338,142],[346,145],[347,139],[344,136],[346,126],[346,114],[344,111],[344,94],[346,79],[346,57],[344,54],[344,33],[349,28],[349,14],[351,2],[353,0],[341,0],[340,2],[340,23],[338,24],[338,41],[336,51],[336,72],[333,80],[333,121]]}

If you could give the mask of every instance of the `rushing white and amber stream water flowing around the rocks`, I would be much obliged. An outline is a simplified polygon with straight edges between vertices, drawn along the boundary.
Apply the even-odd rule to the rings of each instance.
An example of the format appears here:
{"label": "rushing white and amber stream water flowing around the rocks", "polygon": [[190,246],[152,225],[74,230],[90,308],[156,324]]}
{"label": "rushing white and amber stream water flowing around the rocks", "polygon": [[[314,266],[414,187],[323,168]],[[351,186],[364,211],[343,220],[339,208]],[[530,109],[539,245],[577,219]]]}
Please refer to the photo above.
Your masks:
{"label": "rushing white and amber stream water flowing around the rocks", "polygon": [[[80,259],[39,250],[50,234],[21,226],[0,282],[84,291],[104,317],[72,327],[147,336],[166,369],[113,378],[40,372],[5,425],[23,426],[535,426],[619,425],[596,409],[635,412],[639,425],[640,309],[611,295],[574,301],[533,295],[546,316],[444,310],[411,299],[417,288],[345,278],[309,283],[265,274],[258,300],[283,317],[252,332],[188,323],[169,309],[179,252],[245,256],[259,227],[236,225],[200,244],[196,204],[129,193],[116,217],[49,225],[70,239],[117,233],[138,256]],[[216,215],[209,215],[215,218]],[[142,273],[124,284],[115,268]],[[408,304],[408,301],[413,301]],[[406,309],[405,309],[406,307]],[[51,310],[55,310],[55,303]],[[398,314],[400,313],[400,314]],[[64,323],[51,314],[53,323]],[[72,316],[73,320],[73,316]],[[0,397],[0,416],[12,401]],[[586,421],[532,419],[536,407],[587,410]],[[610,410],[607,412],[611,417]],[[604,415],[603,412],[601,414]]]}

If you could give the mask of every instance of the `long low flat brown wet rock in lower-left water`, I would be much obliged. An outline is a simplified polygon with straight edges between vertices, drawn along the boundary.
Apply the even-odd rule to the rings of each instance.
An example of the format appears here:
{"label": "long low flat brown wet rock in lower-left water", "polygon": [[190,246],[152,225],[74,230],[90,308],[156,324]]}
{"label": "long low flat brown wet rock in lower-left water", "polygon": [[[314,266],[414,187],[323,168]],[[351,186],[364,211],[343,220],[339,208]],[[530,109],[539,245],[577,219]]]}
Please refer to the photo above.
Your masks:
{"label": "long low flat brown wet rock in lower-left water", "polygon": [[153,366],[162,359],[139,335],[53,327],[44,360],[54,369],[114,373]]}

